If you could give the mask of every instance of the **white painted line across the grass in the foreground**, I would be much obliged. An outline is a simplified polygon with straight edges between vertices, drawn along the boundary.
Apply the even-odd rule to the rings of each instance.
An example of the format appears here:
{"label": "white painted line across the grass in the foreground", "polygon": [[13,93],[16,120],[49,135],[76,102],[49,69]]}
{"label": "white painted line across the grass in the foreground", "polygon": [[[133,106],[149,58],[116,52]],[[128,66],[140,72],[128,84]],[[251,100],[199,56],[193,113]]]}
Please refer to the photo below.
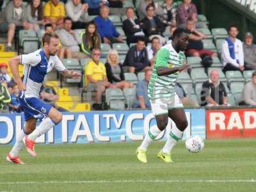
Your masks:
{"label": "white painted line across the grass in the foreground", "polygon": [[226,179],[226,180],[45,180],[45,181],[16,181],[16,182],[0,182],[0,185],[6,185],[6,184],[115,184],[115,183],[140,183],[140,182],[146,182],[146,183],[174,183],[174,182],[256,182],[255,179]]}

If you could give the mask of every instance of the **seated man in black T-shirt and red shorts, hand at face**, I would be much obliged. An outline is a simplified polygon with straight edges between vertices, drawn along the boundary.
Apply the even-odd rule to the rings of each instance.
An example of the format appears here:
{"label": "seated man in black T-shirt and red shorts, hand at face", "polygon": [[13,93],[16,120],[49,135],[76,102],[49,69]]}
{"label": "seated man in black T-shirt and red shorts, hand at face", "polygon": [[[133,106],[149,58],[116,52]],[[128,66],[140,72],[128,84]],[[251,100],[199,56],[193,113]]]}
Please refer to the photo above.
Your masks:
{"label": "seated man in black T-shirt and red shorts, hand at face", "polygon": [[209,49],[204,49],[204,44],[202,40],[206,38],[204,33],[196,30],[195,21],[192,18],[187,20],[186,29],[189,32],[189,44],[186,50],[186,54],[189,56],[198,56],[203,57],[204,55],[208,56],[218,56],[218,54]]}

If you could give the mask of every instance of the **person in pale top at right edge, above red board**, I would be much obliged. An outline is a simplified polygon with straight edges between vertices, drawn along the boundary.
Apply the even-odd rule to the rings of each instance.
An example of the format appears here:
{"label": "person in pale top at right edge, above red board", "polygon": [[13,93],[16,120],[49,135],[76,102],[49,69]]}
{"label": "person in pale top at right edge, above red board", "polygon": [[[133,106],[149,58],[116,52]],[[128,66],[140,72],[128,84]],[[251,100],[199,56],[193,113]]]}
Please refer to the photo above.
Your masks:
{"label": "person in pale top at right edge, above red board", "polygon": [[252,81],[245,84],[239,105],[256,106],[256,71],[252,73]]}

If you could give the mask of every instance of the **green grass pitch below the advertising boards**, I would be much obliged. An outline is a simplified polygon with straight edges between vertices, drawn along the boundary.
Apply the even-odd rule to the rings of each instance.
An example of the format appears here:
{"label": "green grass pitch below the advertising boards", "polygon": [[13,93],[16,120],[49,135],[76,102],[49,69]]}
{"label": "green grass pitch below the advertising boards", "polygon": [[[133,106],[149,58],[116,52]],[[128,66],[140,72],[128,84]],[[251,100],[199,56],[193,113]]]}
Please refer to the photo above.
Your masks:
{"label": "green grass pitch below the advertising boards", "polygon": [[164,143],[148,149],[148,163],[135,156],[139,142],[37,145],[38,157],[22,150],[25,165],[6,163],[0,146],[2,191],[256,191],[256,140],[205,141],[200,154],[180,142],[174,163],[157,159]]}

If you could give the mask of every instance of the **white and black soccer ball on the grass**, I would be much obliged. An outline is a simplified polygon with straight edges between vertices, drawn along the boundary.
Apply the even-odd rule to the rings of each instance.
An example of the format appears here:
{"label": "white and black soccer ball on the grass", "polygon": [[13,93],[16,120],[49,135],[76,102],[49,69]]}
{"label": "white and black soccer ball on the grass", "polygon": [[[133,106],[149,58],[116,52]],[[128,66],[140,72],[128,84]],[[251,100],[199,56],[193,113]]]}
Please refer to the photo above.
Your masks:
{"label": "white and black soccer ball on the grass", "polygon": [[204,148],[204,139],[199,135],[193,136],[186,141],[186,148],[191,153],[199,153]]}

